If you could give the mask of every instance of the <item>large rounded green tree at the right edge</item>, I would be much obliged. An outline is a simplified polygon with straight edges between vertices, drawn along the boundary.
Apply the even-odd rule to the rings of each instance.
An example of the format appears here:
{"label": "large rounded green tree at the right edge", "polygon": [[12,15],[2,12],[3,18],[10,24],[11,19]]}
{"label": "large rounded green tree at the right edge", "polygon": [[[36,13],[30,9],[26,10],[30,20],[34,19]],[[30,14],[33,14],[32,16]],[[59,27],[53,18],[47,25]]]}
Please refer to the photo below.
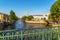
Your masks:
{"label": "large rounded green tree at the right edge", "polygon": [[60,20],[60,0],[57,0],[50,9],[49,19]]}

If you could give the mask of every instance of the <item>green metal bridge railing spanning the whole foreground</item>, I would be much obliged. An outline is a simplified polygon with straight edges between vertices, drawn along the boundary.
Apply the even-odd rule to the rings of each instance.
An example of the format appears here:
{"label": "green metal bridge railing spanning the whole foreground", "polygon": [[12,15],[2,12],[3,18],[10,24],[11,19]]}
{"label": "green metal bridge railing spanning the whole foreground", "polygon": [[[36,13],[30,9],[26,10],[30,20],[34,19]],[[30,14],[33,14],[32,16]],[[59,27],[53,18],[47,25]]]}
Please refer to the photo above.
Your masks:
{"label": "green metal bridge railing spanning the whole foreground", "polygon": [[0,30],[0,40],[60,40],[60,27]]}

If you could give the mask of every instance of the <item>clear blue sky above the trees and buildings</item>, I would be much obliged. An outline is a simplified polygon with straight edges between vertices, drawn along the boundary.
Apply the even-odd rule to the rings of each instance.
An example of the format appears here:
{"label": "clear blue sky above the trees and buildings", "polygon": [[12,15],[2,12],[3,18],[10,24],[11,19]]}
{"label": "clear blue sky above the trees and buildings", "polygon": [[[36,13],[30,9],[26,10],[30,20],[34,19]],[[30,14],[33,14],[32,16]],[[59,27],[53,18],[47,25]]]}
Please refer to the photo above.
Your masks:
{"label": "clear blue sky above the trees and buildings", "polygon": [[26,15],[46,14],[56,0],[0,0],[0,12],[9,14],[13,10],[18,17]]}

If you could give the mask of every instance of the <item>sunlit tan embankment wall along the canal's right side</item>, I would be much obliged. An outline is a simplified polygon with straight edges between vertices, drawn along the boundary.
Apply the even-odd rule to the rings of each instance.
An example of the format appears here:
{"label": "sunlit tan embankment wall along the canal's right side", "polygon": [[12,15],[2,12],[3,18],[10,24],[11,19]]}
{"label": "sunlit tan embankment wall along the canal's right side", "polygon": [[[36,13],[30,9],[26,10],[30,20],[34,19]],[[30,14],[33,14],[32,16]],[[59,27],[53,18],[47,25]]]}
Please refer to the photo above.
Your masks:
{"label": "sunlit tan embankment wall along the canal's right side", "polygon": [[52,26],[52,27],[54,27],[54,26],[60,26],[60,24],[58,24],[58,23],[55,23],[55,22],[49,22],[49,21],[44,21],[44,20],[40,20],[40,21],[25,21],[26,22],[26,24],[27,24],[27,26],[28,25],[32,25],[32,26]]}

